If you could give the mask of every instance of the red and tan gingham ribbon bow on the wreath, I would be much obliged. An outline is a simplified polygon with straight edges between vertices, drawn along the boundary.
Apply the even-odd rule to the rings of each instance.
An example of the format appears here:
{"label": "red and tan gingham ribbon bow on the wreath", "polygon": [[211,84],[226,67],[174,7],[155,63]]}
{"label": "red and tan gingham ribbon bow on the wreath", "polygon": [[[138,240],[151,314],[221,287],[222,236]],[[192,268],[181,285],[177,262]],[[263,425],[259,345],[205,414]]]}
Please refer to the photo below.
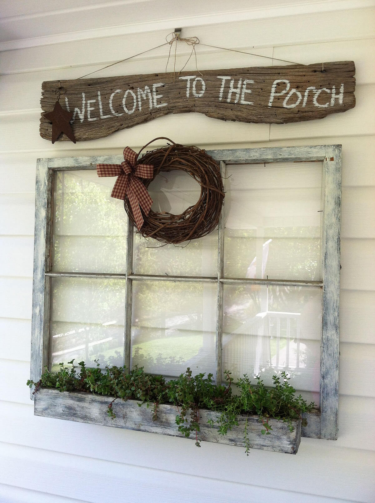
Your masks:
{"label": "red and tan gingham ribbon bow on the wreath", "polygon": [[111,197],[125,199],[125,196],[128,196],[137,228],[140,230],[144,222],[141,208],[145,215],[148,215],[153,203],[140,178],[153,178],[154,166],[137,164],[138,154],[130,147],[124,148],[123,158],[125,160],[121,164],[96,164],[96,173],[98,177],[117,177]]}

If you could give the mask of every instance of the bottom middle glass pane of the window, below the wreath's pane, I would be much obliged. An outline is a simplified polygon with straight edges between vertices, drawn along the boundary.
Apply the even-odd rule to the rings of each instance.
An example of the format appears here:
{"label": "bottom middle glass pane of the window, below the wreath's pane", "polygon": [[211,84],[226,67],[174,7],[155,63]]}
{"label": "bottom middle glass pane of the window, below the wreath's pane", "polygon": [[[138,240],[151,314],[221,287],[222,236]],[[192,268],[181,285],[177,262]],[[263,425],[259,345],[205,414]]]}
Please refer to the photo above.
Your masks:
{"label": "bottom middle glass pane of the window, below the wreath's pane", "polygon": [[176,377],[215,375],[215,284],[133,281],[132,366]]}

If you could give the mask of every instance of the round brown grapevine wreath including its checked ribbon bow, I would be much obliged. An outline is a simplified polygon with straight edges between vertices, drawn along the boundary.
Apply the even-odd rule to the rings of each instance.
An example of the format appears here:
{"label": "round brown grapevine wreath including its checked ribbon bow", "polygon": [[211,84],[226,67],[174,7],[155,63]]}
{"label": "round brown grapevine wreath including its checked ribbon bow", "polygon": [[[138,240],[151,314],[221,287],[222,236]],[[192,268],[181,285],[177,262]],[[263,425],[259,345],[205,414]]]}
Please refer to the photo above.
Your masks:
{"label": "round brown grapevine wreath including its checked ribbon bow", "polygon": [[[148,151],[138,159],[142,150],[159,139],[171,144]],[[123,199],[130,220],[144,237],[178,244],[205,236],[218,224],[224,200],[219,165],[198,147],[180,145],[164,137],[155,140],[142,147],[138,154],[129,147],[124,149],[125,160],[121,164],[98,164],[98,176],[118,175],[111,195]],[[196,180],[200,197],[180,215],[157,213],[151,209],[152,199],[147,189],[159,173],[173,170],[184,171]]]}

